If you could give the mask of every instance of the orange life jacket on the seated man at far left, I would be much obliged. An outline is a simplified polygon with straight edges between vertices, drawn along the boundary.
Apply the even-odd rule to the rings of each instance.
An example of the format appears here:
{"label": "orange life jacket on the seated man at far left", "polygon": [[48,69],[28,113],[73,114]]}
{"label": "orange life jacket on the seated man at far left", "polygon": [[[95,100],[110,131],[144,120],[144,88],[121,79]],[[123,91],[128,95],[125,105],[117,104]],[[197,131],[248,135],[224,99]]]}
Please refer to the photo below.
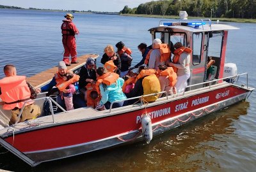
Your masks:
{"label": "orange life jacket on the seated man at far left", "polygon": [[[31,96],[26,76],[8,76],[0,80],[2,94],[1,99],[4,101],[4,110],[13,110],[13,108],[22,108],[24,101],[28,101]],[[32,104],[28,102],[26,105]]]}

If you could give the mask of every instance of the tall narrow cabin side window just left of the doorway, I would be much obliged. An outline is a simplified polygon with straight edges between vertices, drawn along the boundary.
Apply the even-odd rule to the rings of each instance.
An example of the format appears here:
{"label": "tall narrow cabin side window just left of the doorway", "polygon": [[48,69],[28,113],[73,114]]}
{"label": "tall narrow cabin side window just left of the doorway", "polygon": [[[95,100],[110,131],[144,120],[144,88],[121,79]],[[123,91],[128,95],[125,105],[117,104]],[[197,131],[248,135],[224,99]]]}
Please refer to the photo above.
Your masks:
{"label": "tall narrow cabin side window just left of the doorway", "polygon": [[202,54],[203,33],[193,33],[193,65],[200,64]]}

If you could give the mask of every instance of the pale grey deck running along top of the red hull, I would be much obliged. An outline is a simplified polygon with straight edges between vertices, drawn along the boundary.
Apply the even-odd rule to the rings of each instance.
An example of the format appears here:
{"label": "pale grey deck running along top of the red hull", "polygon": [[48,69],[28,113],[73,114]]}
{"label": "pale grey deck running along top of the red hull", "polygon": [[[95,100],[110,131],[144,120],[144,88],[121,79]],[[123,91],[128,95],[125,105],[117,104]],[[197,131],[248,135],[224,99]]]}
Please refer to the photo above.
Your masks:
{"label": "pale grey deck running along top of the red hull", "polygon": [[[52,125],[65,124],[65,123],[77,122],[77,121],[81,122],[82,120],[92,120],[95,118],[108,117],[111,115],[117,115],[120,113],[127,113],[129,111],[139,110],[141,108],[145,108],[145,106],[150,107],[150,106],[157,106],[163,103],[170,103],[170,101],[175,101],[177,99],[182,99],[189,96],[195,96],[196,94],[209,92],[215,89],[220,89],[223,87],[227,87],[228,85],[232,85],[232,84],[226,83],[226,82],[218,83],[216,85],[212,85],[211,89],[209,89],[209,87],[204,87],[202,89],[198,89],[196,92],[192,90],[189,92],[185,92],[184,95],[168,96],[168,99],[166,99],[166,97],[163,97],[163,98],[157,99],[157,101],[154,103],[150,103],[148,105],[143,105],[143,106],[140,106],[140,104],[133,104],[133,105],[125,106],[122,108],[115,108],[111,111],[111,113],[109,113],[109,110],[98,111],[88,107],[79,108],[79,109],[67,111],[67,113],[63,112],[63,113],[54,115],[55,123],[53,123],[52,115],[48,115],[45,117],[28,120],[26,122],[20,122],[16,125],[12,125],[11,128],[13,129],[14,132],[17,132],[17,131],[22,131],[24,129],[31,129],[33,127],[52,126]],[[12,129],[10,130],[10,127],[0,129],[0,136],[6,133],[12,133]]]}

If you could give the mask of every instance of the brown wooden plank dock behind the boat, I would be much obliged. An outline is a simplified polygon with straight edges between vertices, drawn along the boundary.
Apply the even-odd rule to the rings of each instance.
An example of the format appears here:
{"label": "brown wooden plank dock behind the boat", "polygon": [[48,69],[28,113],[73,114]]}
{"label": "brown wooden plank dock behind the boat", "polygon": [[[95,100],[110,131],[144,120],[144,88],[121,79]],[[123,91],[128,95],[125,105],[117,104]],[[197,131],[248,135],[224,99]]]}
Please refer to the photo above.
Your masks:
{"label": "brown wooden plank dock behind the boat", "polygon": [[[71,64],[71,66],[67,66],[68,70],[74,71],[78,68],[81,68],[81,66],[83,66],[85,64],[86,59],[88,59],[89,57],[96,59],[97,57],[99,57],[99,55],[98,54],[85,54],[80,57],[77,57],[77,61],[79,61],[79,63]],[[41,73],[38,73],[34,76],[27,78],[26,80],[31,85],[33,85],[33,87],[35,87],[35,89],[36,89],[36,88],[42,87],[46,83],[51,82],[52,77],[54,76],[54,73],[56,73],[56,71],[58,71],[58,64],[56,64],[55,67],[48,69],[46,71],[42,71]]]}

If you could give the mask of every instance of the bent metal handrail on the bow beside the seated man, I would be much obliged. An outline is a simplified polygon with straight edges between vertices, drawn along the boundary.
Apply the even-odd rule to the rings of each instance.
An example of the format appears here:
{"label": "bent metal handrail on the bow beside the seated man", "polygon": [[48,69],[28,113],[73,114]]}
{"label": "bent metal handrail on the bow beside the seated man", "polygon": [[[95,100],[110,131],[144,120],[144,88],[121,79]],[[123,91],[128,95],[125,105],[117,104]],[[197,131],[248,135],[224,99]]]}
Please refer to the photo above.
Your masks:
{"label": "bent metal handrail on the bow beside the seated man", "polygon": [[20,117],[22,115],[22,112],[26,106],[26,104],[28,104],[29,102],[31,101],[39,101],[39,100],[44,100],[44,101],[48,101],[49,102],[49,105],[50,105],[50,111],[51,111],[51,115],[52,115],[52,122],[55,123],[55,119],[54,119],[54,108],[52,106],[52,103],[54,103],[58,108],[60,108],[62,111],[64,112],[67,112],[64,108],[62,108],[60,106],[60,104],[58,104],[56,101],[54,101],[54,99],[52,99],[52,97],[41,97],[41,98],[38,98],[38,99],[30,99],[28,101],[24,101],[24,104],[22,106],[22,108],[20,109],[20,113],[19,113],[19,116],[15,122],[14,125],[16,125],[19,121],[20,121]]}

